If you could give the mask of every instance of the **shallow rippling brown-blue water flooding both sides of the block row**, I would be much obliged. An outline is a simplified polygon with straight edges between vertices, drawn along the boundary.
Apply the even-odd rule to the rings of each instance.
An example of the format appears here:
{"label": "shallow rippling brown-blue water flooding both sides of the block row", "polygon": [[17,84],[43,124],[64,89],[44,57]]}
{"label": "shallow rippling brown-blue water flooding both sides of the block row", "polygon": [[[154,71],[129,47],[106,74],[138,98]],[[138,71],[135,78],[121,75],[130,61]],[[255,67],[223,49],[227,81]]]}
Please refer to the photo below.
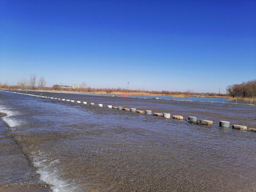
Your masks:
{"label": "shallow rippling brown-blue water flooding both sides of the block row", "polygon": [[[255,127],[253,106],[43,94],[95,102],[0,92],[9,131],[54,191],[256,190],[256,133],[218,126],[227,120]],[[97,103],[197,116],[214,124],[192,125]]]}

